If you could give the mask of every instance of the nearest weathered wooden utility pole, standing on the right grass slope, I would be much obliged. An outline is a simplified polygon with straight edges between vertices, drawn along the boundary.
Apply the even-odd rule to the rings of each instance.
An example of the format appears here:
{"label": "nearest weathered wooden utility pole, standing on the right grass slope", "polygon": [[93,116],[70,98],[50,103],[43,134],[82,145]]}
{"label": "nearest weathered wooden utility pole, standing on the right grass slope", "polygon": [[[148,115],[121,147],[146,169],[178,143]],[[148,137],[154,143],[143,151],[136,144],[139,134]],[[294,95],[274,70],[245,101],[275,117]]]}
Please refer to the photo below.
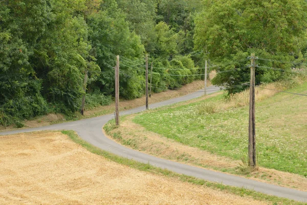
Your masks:
{"label": "nearest weathered wooden utility pole, standing on the right grass slope", "polygon": [[250,109],[248,127],[248,164],[256,166],[256,132],[255,132],[255,54],[251,56]]}

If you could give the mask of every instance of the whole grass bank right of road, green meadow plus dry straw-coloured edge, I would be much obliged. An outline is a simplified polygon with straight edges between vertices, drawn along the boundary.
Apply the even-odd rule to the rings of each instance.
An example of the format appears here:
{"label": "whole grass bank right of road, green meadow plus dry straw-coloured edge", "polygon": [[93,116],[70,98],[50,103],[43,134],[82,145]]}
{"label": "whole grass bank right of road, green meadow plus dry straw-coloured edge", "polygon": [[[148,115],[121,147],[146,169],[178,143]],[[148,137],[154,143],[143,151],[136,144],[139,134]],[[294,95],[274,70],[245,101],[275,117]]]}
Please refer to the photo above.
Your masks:
{"label": "whole grass bank right of road, green meadow plus dry straw-coloured edge", "polygon": [[[270,84],[266,88],[283,86]],[[304,93],[306,88],[302,84],[289,91]],[[120,127],[111,121],[104,129],[121,144],[151,155],[307,191],[305,97],[256,89],[260,168],[254,172],[244,163],[248,98],[248,91],[230,98],[223,92],[215,93],[125,116]],[[280,121],[287,121],[287,125]]]}

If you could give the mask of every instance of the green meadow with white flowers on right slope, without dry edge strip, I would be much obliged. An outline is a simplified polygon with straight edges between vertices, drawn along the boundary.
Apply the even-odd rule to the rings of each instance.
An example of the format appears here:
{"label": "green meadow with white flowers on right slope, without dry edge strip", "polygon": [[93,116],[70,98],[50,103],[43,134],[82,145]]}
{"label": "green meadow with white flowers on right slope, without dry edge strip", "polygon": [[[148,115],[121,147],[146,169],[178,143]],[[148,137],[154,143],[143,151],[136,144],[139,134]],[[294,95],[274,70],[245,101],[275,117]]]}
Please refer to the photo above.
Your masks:
{"label": "green meadow with white flowers on right slope, without dry edge strip", "polygon": [[[307,83],[288,90],[307,94]],[[248,106],[218,109],[222,95],[143,112],[147,130],[232,159],[247,157]],[[278,93],[256,103],[256,147],[261,167],[307,176],[307,96]]]}

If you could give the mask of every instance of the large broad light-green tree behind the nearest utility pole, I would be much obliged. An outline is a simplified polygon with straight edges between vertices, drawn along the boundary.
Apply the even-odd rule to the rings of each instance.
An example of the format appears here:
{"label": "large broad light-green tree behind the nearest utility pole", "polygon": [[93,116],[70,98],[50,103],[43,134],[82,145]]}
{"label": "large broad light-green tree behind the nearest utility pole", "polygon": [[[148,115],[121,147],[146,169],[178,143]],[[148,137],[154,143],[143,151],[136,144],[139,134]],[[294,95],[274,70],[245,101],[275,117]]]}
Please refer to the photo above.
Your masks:
{"label": "large broad light-green tree behind the nearest utility pole", "polygon": [[[291,1],[204,1],[204,11],[196,18],[194,43],[205,48],[207,58],[227,63],[251,53],[271,59],[295,60],[301,56],[305,40],[307,3]],[[218,70],[242,67],[248,60]],[[278,63],[257,61],[259,65],[282,67]],[[223,73],[216,85],[232,86],[247,81],[247,70]],[[280,79],[279,71],[257,68],[256,83]],[[284,75],[283,75],[284,76]],[[231,90],[230,90],[231,91]],[[236,90],[238,91],[238,90]]]}

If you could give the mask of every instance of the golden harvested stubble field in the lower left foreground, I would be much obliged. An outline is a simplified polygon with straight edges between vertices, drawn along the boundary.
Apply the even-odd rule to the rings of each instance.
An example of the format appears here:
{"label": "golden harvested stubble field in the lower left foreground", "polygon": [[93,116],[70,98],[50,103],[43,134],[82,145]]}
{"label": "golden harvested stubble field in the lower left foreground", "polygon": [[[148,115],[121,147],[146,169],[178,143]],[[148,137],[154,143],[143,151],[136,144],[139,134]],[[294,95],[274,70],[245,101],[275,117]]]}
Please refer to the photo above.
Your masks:
{"label": "golden harvested stubble field in the lower left foreground", "polygon": [[262,203],[119,165],[59,132],[0,136],[0,204]]}

